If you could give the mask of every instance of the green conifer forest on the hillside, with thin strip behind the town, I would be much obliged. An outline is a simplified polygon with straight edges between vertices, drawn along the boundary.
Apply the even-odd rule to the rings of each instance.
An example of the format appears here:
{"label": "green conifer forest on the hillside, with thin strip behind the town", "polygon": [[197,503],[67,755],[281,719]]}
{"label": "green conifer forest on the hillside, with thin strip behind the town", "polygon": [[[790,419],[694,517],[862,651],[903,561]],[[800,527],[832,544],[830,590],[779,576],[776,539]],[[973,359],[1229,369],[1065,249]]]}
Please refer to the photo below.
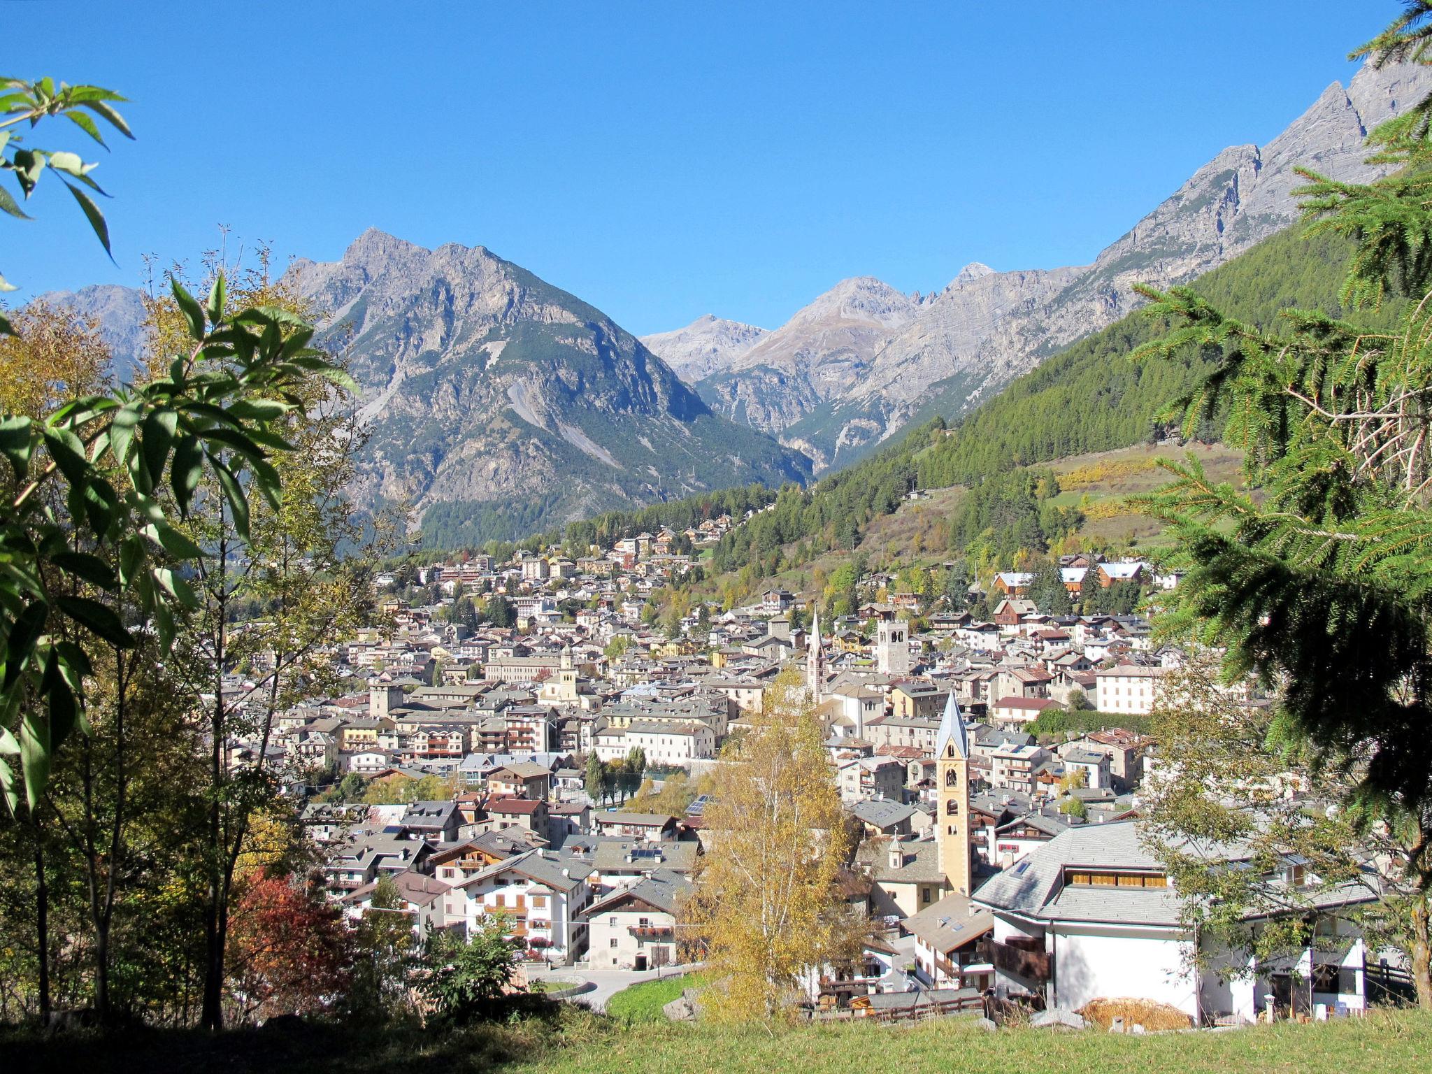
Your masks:
{"label": "green conifer forest on the hillside, with thin strip behind the town", "polygon": [[[1193,286],[1230,315],[1259,325],[1273,325],[1293,308],[1320,306],[1343,315],[1337,295],[1349,255],[1343,239],[1293,228]],[[1376,329],[1390,325],[1396,314],[1389,304],[1359,312],[1358,319]],[[853,550],[872,518],[894,513],[916,488],[969,485],[972,494],[945,520],[951,554],[975,550],[984,563],[1005,563],[1020,550],[1045,551],[1051,541],[1078,528],[1078,510],[1054,503],[1058,481],[1053,471],[1014,471],[1167,434],[1160,412],[1211,361],[1196,354],[1141,364],[1130,358],[1167,328],[1147,314],[1130,314],[1051,357],[955,427],[939,414],[925,415],[895,444],[811,488],[786,485],[772,493],[748,487],[607,513],[534,537],[530,544],[564,540],[584,548],[590,541],[609,543],[662,524],[689,526],[725,511],[740,517],[748,508],[769,505],[726,534],[709,564],[716,573],[749,567],[748,574],[759,579],[828,551]],[[1213,438],[1216,432],[1204,428],[1199,435]]]}

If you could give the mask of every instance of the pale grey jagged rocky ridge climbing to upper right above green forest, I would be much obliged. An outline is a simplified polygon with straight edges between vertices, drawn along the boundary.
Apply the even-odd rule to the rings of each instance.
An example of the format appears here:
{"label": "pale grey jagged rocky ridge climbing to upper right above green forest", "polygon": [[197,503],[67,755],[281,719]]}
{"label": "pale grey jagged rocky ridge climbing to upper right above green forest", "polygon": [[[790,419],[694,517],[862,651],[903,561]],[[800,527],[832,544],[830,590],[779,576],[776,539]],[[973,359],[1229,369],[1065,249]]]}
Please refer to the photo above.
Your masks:
{"label": "pale grey jagged rocky ridge climbing to upper right above green forest", "polygon": [[[1432,77],[1421,67],[1365,66],[1346,89],[1329,86],[1266,146],[1219,153],[1090,265],[1017,272],[969,266],[921,299],[886,338],[874,338],[878,326],[869,325],[858,355],[841,342],[822,349],[821,325],[802,316],[831,305],[822,295],[798,315],[808,342],[793,348],[792,361],[776,372],[758,364],[788,325],[730,368],[707,374],[697,391],[720,412],[799,447],[821,470],[852,461],[914,420],[969,410],[1048,355],[1113,324],[1138,304],[1134,284],[1187,282],[1289,226],[1297,219],[1290,192],[1303,182],[1295,168],[1350,182],[1375,178],[1380,169],[1365,163],[1366,132],[1429,89]],[[838,319],[832,316],[832,325]],[[843,387],[829,391],[828,379],[825,391],[812,390],[811,375],[821,369],[831,371],[829,379],[843,377]]]}

